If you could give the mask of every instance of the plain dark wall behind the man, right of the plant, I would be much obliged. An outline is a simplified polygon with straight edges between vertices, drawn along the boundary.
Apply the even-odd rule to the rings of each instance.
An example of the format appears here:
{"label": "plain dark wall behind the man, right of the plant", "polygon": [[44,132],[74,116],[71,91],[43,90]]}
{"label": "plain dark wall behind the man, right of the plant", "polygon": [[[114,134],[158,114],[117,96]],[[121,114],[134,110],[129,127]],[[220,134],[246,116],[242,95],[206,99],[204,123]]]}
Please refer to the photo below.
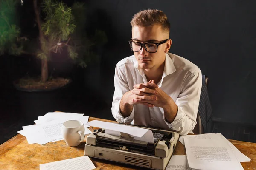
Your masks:
{"label": "plain dark wall behind the man, right of the plant", "polygon": [[210,79],[214,119],[255,125],[256,1],[89,0],[87,3],[89,21],[104,29],[109,37],[103,60],[111,75],[116,62],[132,54],[128,40],[133,15],[148,8],[162,10],[171,23],[169,52],[189,59]]}

